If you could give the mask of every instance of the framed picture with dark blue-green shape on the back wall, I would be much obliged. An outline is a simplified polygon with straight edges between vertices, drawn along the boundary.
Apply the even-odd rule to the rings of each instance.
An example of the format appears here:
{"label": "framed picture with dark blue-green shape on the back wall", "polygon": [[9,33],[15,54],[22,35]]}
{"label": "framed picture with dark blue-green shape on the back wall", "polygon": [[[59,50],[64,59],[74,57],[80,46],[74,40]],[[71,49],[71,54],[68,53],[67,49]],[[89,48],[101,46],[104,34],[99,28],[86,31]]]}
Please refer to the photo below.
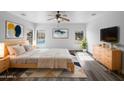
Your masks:
{"label": "framed picture with dark blue-green shape on the back wall", "polygon": [[68,39],[69,29],[67,28],[53,28],[52,37],[54,39]]}

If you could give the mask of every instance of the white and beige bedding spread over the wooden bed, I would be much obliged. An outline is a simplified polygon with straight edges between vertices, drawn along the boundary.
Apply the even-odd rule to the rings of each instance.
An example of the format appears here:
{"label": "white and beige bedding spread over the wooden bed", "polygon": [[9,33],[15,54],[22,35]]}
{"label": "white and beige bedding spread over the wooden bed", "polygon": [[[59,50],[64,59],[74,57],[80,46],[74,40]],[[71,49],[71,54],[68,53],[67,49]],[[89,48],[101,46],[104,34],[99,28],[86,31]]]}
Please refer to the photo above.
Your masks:
{"label": "white and beige bedding spread over the wooden bed", "polygon": [[34,49],[19,56],[11,56],[15,64],[37,63],[37,68],[65,68],[72,63],[67,49]]}

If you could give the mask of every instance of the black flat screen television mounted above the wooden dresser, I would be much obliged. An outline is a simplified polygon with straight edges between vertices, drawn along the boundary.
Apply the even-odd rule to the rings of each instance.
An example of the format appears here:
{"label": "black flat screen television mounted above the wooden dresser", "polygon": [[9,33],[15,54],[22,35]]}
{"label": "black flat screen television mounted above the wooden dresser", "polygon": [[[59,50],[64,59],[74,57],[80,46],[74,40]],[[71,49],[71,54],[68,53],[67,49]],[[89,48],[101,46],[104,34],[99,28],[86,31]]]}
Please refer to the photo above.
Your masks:
{"label": "black flat screen television mounted above the wooden dresser", "polygon": [[118,43],[119,42],[119,27],[103,28],[100,30],[100,40],[104,42]]}

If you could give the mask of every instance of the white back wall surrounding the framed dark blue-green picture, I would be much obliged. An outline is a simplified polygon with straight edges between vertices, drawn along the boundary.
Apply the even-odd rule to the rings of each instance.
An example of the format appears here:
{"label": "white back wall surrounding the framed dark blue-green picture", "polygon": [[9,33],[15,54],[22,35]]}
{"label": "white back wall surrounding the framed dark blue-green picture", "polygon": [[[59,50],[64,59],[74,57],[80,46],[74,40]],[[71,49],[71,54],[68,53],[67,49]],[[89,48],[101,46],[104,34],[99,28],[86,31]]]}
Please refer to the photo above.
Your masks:
{"label": "white back wall surrounding the framed dark blue-green picture", "polygon": [[[69,30],[68,39],[53,39],[53,28],[67,28]],[[45,47],[48,48],[67,48],[67,49],[79,49],[79,44],[75,41],[76,31],[86,31],[86,24],[81,23],[60,23],[60,24],[40,24],[37,26],[38,30],[45,31]]]}

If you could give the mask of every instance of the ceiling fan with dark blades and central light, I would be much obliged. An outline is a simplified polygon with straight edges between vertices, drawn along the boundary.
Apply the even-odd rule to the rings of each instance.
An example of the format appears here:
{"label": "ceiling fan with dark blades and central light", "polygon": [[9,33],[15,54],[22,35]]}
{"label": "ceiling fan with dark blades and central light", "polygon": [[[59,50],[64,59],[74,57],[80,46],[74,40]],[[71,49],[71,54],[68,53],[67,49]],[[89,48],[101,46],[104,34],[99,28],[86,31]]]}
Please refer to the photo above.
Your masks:
{"label": "ceiling fan with dark blades and central light", "polygon": [[61,21],[70,21],[69,18],[66,18],[67,15],[63,15],[60,14],[60,11],[57,11],[56,15],[49,15],[49,16],[53,16],[53,18],[49,18],[48,20],[57,20],[58,23],[60,23]]}

